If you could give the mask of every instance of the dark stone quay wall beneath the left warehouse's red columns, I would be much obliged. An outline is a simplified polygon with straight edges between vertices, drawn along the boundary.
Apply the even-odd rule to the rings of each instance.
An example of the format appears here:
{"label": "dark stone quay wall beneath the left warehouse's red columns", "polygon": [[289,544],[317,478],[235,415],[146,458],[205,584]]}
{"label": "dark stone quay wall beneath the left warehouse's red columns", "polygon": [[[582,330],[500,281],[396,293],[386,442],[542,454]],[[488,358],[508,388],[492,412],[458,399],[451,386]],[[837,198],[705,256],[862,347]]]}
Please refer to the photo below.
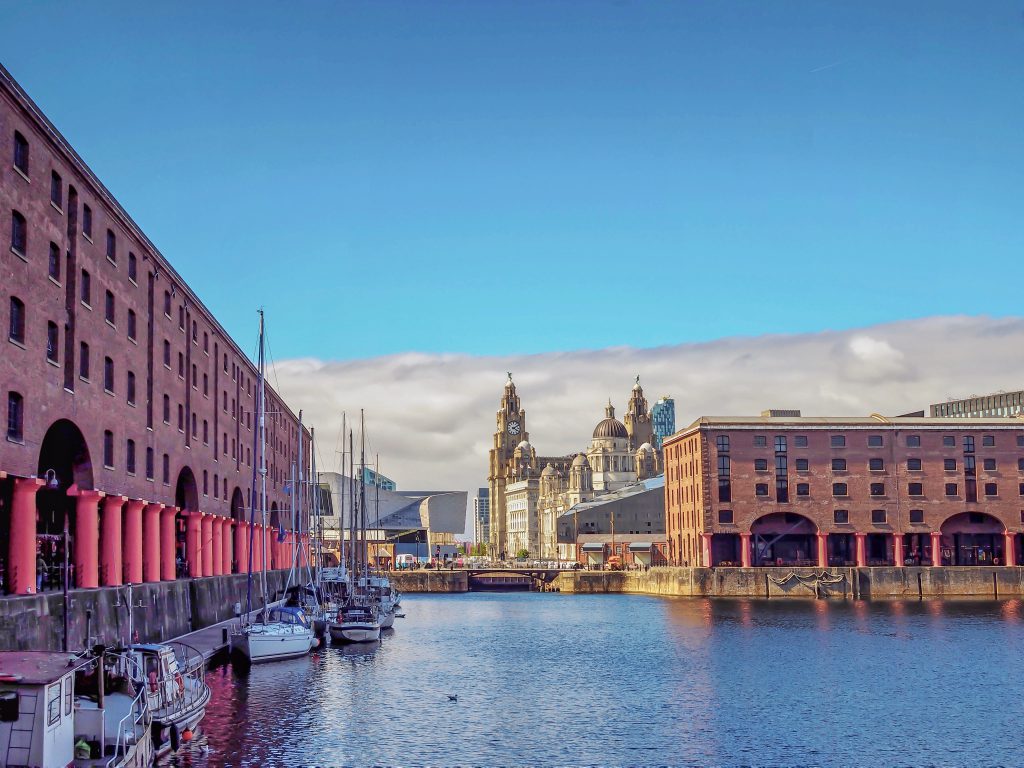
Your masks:
{"label": "dark stone quay wall beneath the left warehouse's red columns", "polygon": [[[271,600],[283,595],[287,577],[286,570],[267,572]],[[170,640],[231,618],[236,602],[245,610],[246,580],[245,573],[236,573],[134,585],[132,621],[139,642]],[[254,583],[254,605],[258,589]],[[68,594],[69,649],[129,640],[126,587],[78,589]],[[62,650],[63,594],[45,592],[0,599],[0,648]]]}

